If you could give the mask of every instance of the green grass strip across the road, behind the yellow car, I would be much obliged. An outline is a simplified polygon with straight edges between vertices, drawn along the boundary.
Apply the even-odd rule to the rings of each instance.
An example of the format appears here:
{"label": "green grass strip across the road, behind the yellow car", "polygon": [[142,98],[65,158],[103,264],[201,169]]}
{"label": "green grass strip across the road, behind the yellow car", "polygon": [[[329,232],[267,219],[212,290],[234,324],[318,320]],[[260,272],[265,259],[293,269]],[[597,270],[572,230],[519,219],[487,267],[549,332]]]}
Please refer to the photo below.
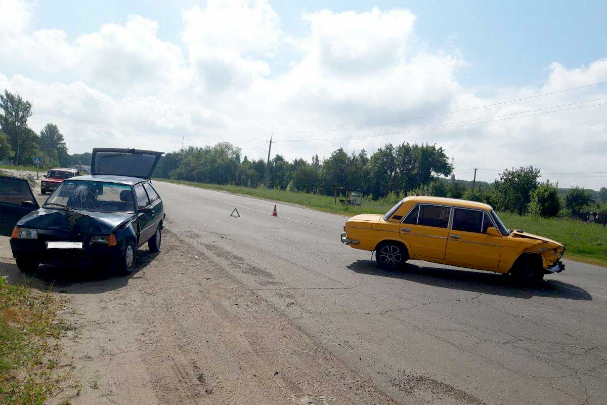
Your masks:
{"label": "green grass strip across the road, behind the yellow car", "polygon": [[[227,191],[234,194],[258,197],[260,199],[297,204],[307,208],[319,209],[320,211],[345,215],[364,213],[383,214],[392,207],[391,204],[375,201],[365,201],[362,206],[354,207],[341,205],[339,200],[337,200],[337,205],[335,205],[333,197],[305,194],[302,192],[241,186],[221,186],[216,184],[201,184],[166,179],[158,180],[218,191]],[[529,233],[538,234],[565,243],[567,249],[566,255],[571,259],[607,265],[607,227],[569,219],[534,219],[532,217],[518,216],[517,214],[511,213],[499,213],[499,215],[508,228],[522,229]]]}

